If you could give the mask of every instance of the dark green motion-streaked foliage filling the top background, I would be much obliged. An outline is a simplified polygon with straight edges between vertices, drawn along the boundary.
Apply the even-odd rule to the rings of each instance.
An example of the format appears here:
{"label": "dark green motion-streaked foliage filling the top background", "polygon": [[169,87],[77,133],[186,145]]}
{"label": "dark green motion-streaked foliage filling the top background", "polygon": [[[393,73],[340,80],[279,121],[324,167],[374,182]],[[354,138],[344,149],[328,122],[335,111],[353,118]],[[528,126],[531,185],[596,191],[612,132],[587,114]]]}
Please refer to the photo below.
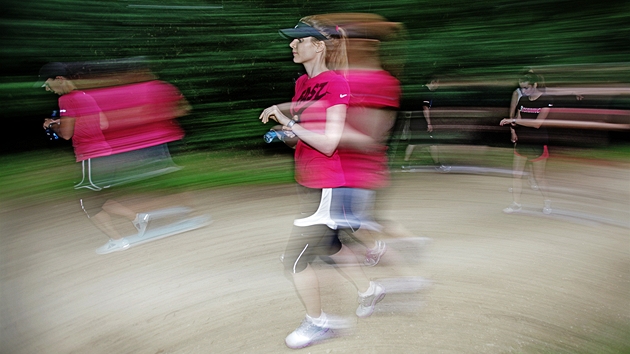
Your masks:
{"label": "dark green motion-streaked foliage filling the top background", "polygon": [[[628,60],[629,2],[9,0],[0,15],[0,103],[5,118],[19,122],[15,136],[41,134],[36,129],[56,102],[32,88],[41,65],[143,55],[193,106],[181,120],[184,149],[257,148],[268,129],[259,112],[289,100],[302,69],[277,30],[327,12],[376,13],[405,25],[405,40],[384,53],[386,64],[404,63],[405,104],[413,105],[434,72],[505,87],[493,103],[505,105],[526,66],[557,68],[548,83],[630,81],[627,66],[606,70]],[[594,64],[575,75],[576,67]],[[45,147],[10,142],[7,151]]]}

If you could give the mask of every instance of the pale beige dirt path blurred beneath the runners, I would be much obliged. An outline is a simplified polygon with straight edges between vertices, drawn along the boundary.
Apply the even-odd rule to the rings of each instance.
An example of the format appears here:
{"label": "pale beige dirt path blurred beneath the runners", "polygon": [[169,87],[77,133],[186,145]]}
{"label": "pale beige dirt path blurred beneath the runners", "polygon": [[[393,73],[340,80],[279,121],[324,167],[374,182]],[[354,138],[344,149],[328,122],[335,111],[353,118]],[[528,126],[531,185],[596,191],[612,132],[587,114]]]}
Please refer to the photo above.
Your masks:
{"label": "pale beige dirt path blurred beneath the runners", "polygon": [[[504,215],[506,177],[396,174],[383,215],[432,241],[414,262],[388,252],[366,272],[430,283],[388,295],[352,334],[301,352],[628,350],[629,166],[559,161],[549,170],[564,216]],[[294,352],[284,337],[303,310],[278,258],[293,187],[193,199],[212,215],[208,227],[104,256],[94,253],[104,237],[72,202],[4,205],[0,352]],[[542,207],[533,191],[523,200]],[[351,315],[354,288],[324,273],[325,309]]]}

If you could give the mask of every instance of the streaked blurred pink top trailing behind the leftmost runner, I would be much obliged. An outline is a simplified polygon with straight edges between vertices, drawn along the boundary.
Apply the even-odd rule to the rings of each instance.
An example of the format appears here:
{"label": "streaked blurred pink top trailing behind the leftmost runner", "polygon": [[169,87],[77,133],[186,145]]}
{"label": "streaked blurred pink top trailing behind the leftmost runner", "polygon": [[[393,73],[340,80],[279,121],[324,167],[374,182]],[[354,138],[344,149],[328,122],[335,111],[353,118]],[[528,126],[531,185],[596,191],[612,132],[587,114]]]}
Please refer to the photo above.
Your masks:
{"label": "streaked blurred pink top trailing behind the leftmost runner", "polygon": [[175,121],[182,94],[159,80],[87,91],[101,107],[109,127],[103,131],[113,154],[179,140]]}

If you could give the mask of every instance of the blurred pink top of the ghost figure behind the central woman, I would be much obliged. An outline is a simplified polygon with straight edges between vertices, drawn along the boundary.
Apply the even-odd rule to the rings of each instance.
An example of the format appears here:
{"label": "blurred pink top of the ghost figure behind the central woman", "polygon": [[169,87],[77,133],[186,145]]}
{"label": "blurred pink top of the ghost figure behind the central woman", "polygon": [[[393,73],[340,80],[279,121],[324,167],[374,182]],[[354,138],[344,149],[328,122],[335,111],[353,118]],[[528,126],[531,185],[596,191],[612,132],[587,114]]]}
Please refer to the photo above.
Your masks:
{"label": "blurred pink top of the ghost figure behind the central woman", "polygon": [[[354,129],[362,131],[361,107],[397,109],[400,106],[400,83],[387,71],[351,70],[347,78],[352,97],[346,124]],[[377,189],[389,183],[385,144],[372,152],[339,148],[339,156],[346,187]]]}

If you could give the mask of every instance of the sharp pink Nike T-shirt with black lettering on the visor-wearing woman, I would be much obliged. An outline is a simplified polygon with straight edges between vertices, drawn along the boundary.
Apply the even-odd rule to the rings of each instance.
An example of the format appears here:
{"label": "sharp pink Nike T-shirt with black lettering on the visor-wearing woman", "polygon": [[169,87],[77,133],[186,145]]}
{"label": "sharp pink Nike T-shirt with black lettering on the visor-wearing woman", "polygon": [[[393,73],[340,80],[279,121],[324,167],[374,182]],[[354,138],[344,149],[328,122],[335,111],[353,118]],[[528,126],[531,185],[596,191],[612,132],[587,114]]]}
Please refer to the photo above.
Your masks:
{"label": "sharp pink Nike T-shirt with black lettering on the visor-wearing woman", "polygon": [[[313,78],[302,75],[295,83],[291,115],[298,116],[300,125],[323,134],[326,129],[326,109],[347,105],[350,89],[343,76],[325,71]],[[345,184],[339,153],[326,156],[299,140],[295,148],[295,180],[309,188],[334,188]]]}

